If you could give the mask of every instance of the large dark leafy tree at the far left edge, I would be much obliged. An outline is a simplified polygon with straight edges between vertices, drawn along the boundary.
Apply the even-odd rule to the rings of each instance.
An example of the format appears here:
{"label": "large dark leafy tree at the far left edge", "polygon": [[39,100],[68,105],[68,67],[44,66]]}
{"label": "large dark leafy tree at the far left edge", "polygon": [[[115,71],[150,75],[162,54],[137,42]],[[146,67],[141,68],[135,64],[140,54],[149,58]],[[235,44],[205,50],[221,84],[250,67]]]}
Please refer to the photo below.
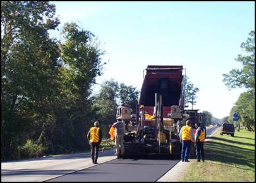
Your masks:
{"label": "large dark leafy tree at the far left edge", "polygon": [[59,53],[48,30],[59,20],[55,6],[42,1],[3,1],[1,11],[1,144],[2,159],[10,159],[53,122]]}

